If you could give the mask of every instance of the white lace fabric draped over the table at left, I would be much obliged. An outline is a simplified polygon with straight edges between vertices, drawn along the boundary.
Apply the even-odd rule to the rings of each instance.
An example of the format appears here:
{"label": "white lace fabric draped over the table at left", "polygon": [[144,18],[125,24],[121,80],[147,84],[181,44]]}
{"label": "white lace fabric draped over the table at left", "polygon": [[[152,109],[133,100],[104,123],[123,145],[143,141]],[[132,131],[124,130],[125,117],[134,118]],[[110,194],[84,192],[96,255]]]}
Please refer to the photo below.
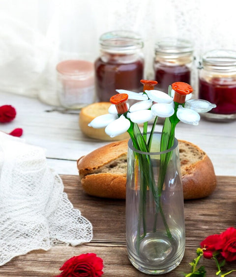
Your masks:
{"label": "white lace fabric draped over the table at left", "polygon": [[73,208],[44,150],[0,132],[0,266],[58,241],[91,239],[91,223]]}

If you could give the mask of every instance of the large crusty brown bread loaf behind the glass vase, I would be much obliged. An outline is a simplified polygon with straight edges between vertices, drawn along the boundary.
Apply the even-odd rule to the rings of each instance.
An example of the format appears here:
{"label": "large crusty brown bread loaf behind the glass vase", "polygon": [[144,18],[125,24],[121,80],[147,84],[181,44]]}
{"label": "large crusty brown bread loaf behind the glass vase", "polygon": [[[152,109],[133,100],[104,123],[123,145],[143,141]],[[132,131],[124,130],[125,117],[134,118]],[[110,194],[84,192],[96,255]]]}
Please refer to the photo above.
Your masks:
{"label": "large crusty brown bread loaf behind the glass vase", "polygon": [[[84,190],[93,196],[125,199],[128,139],[109,143],[77,161]],[[178,140],[184,199],[211,194],[216,176],[211,160],[198,146]]]}

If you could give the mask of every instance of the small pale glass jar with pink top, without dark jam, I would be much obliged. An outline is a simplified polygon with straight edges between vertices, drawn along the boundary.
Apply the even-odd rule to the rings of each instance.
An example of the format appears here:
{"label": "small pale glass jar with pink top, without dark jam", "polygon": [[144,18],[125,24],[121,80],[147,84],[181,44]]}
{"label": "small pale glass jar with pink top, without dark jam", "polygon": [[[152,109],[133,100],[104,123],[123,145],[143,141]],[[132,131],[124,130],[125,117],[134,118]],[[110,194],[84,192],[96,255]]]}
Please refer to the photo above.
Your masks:
{"label": "small pale glass jar with pink top, without dark jam", "polygon": [[57,65],[57,93],[62,107],[81,109],[95,101],[92,62],[66,60]]}

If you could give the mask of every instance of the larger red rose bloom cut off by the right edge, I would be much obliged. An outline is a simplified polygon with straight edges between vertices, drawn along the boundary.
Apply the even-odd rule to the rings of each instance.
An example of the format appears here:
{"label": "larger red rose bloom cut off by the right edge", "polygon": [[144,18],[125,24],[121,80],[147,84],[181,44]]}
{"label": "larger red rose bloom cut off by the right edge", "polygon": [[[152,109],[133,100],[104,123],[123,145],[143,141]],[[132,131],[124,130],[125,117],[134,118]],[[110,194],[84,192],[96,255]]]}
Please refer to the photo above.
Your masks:
{"label": "larger red rose bloom cut off by the right edge", "polygon": [[227,262],[236,260],[236,229],[228,228],[220,234],[221,255]]}

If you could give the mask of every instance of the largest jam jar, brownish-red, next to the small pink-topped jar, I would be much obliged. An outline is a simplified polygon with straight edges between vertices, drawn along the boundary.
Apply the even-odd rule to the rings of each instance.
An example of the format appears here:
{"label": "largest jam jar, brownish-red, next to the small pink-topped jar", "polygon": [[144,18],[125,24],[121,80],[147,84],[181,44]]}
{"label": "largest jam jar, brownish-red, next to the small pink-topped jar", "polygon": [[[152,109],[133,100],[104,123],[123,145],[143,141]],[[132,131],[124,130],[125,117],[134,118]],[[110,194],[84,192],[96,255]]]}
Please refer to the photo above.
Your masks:
{"label": "largest jam jar, brownish-red, next to the small pink-topped jar", "polygon": [[111,31],[100,37],[100,57],[95,61],[97,101],[109,102],[117,89],[142,92],[143,41],[132,31]]}

